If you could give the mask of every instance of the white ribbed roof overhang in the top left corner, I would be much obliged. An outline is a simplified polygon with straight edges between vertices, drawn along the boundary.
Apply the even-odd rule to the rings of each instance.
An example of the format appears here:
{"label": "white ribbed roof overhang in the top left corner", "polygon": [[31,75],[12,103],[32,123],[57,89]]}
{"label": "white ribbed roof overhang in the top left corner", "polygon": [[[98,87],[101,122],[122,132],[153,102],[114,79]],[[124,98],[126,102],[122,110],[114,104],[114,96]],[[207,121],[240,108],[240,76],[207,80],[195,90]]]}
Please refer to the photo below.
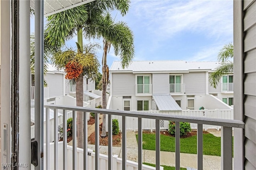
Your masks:
{"label": "white ribbed roof overhang in the top left corner", "polygon": [[[94,0],[44,0],[44,16],[50,16]],[[35,9],[35,0],[30,0],[30,8]]]}

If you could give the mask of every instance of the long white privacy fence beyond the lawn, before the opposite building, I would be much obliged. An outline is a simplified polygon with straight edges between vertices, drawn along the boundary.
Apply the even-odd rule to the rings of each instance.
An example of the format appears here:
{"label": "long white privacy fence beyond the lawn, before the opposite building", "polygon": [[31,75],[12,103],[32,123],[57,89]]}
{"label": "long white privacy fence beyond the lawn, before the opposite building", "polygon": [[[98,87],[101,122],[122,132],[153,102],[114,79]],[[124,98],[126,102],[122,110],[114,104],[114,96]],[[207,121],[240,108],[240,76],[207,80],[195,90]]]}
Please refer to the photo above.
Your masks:
{"label": "long white privacy fence beyond the lawn, before the opposite building", "polygon": [[[182,116],[193,116],[193,117],[205,117],[205,118],[218,118],[218,119],[234,119],[233,109],[215,109],[215,110],[182,110],[176,112],[160,112],[160,111],[143,111],[147,113],[163,113],[167,115],[182,115]],[[118,119],[119,128],[122,131],[122,117],[113,115],[112,119]],[[197,129],[196,123],[190,123],[192,129]],[[106,121],[106,127],[107,121]],[[169,121],[160,120],[160,129],[168,130]],[[204,130],[208,129],[216,129],[220,130],[220,126],[216,125],[203,125]],[[142,119],[142,129],[143,130],[155,130],[156,129],[156,121],[154,119]],[[138,130],[138,118],[136,117],[127,117],[126,118],[126,130]]]}

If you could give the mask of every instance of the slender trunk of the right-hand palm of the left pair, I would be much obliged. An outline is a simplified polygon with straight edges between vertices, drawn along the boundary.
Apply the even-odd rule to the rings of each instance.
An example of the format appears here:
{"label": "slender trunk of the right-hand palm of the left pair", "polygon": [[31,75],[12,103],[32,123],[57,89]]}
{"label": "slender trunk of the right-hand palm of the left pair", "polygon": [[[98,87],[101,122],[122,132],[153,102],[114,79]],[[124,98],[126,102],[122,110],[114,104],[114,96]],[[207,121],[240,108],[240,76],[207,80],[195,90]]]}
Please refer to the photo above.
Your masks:
{"label": "slender trunk of the right-hand palm of the left pair", "polygon": [[[104,41],[104,54],[102,58],[102,109],[107,108],[107,84],[108,84],[108,77],[106,73],[107,68],[107,52],[108,52],[108,42]],[[107,136],[106,134],[106,115],[102,115],[102,133],[101,136]]]}

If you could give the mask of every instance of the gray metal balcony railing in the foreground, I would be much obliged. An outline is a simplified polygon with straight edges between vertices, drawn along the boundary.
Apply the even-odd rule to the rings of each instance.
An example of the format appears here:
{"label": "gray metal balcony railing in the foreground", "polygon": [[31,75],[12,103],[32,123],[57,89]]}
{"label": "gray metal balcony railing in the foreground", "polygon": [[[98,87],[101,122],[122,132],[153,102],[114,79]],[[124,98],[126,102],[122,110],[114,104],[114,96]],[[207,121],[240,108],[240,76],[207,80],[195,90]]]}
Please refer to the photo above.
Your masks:
{"label": "gray metal balcony railing in the foreground", "polygon": [[[72,164],[72,169],[88,169],[88,166],[84,165],[94,164],[96,170],[98,169],[113,169],[113,156],[112,156],[112,115],[122,116],[122,129],[126,129],[126,118],[135,117],[138,119],[138,169],[145,169],[142,166],[142,119],[154,119],[156,122],[156,169],[160,170],[160,120],[165,121],[176,121],[175,125],[175,166],[176,169],[180,169],[180,122],[196,123],[197,124],[197,157],[198,157],[198,170],[203,169],[203,125],[217,125],[221,126],[221,167],[223,170],[232,169],[232,127],[244,128],[244,123],[238,120],[227,120],[227,119],[215,119],[215,118],[204,118],[204,117],[191,117],[182,115],[166,115],[163,113],[145,113],[137,111],[119,111],[119,110],[108,110],[108,109],[96,109],[96,108],[84,108],[84,107],[65,107],[60,105],[45,105],[46,107],[46,169],[54,167],[58,169],[58,165],[61,164],[63,169],[67,169],[68,161]],[[73,142],[72,147],[72,158],[70,154],[67,154],[67,131],[63,130],[63,145],[58,147],[58,142],[54,142],[54,154],[52,150],[50,152],[50,120],[49,120],[49,109],[54,109],[54,119],[57,117],[58,109],[63,110],[63,127],[66,127],[67,122],[67,110],[72,111],[73,117],[73,141],[77,140],[76,136],[76,112],[83,112],[84,120],[87,120],[88,115],[86,112],[95,113],[95,157],[92,158],[87,152],[83,152],[83,158],[79,157],[78,161],[78,150],[77,142]],[[100,146],[99,146],[99,113],[108,115],[108,163],[100,164]],[[88,149],[88,124],[87,121],[83,123],[84,130],[84,149]],[[54,123],[54,134],[58,134],[58,125]],[[126,130],[122,131],[122,169],[127,169],[128,161],[127,150],[126,150]],[[55,136],[55,141],[58,141],[58,136]],[[51,144],[52,145],[52,144]],[[242,147],[242,146],[239,146]],[[62,153],[59,154],[58,150]],[[50,165],[50,155],[51,162]],[[61,156],[61,158],[58,158]],[[68,160],[67,160],[68,157]],[[236,157],[236,155],[234,155]],[[71,161],[72,159],[72,161]],[[93,160],[92,160],[93,159]],[[234,158],[235,159],[235,158]],[[61,160],[61,162],[60,162]],[[242,162],[241,162],[242,164]],[[108,166],[108,168],[106,167]]]}

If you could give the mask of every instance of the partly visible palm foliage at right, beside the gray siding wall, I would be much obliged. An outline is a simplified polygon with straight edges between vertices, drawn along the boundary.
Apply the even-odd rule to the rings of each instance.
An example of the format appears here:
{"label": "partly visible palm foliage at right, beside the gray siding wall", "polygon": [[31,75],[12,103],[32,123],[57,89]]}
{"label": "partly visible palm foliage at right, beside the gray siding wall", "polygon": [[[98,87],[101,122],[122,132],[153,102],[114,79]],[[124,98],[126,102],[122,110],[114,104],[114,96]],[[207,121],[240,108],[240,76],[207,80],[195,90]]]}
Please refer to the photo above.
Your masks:
{"label": "partly visible palm foliage at right, beside the gray siding wall", "polygon": [[216,88],[223,75],[233,72],[233,61],[229,61],[229,58],[234,56],[234,47],[232,43],[224,45],[224,47],[218,53],[218,61],[221,62],[221,66],[216,68],[209,76],[209,83],[212,87]]}

